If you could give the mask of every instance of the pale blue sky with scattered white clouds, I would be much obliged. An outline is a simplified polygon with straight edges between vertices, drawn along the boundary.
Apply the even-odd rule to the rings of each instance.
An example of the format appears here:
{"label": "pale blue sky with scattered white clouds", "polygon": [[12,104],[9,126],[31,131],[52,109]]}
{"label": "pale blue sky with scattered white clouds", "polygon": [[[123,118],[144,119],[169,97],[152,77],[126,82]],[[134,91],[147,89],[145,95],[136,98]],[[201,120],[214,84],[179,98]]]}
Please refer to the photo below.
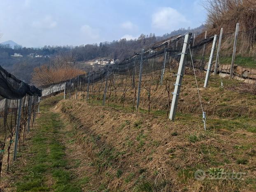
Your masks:
{"label": "pale blue sky with scattered white clouds", "polygon": [[205,22],[203,0],[0,0],[0,42],[64,46],[163,35]]}

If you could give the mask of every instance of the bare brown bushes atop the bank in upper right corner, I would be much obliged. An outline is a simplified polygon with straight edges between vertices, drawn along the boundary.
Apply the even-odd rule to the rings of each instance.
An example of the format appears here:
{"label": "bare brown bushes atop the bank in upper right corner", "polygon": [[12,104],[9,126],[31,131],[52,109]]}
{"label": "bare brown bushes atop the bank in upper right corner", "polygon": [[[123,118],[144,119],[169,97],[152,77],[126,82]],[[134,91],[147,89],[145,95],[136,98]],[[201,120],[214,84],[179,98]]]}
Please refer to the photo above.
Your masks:
{"label": "bare brown bushes atop the bank in upper right corner", "polygon": [[242,39],[247,47],[256,41],[256,2],[255,0],[205,0],[208,11],[206,27],[210,35],[234,32],[236,23],[240,23]]}

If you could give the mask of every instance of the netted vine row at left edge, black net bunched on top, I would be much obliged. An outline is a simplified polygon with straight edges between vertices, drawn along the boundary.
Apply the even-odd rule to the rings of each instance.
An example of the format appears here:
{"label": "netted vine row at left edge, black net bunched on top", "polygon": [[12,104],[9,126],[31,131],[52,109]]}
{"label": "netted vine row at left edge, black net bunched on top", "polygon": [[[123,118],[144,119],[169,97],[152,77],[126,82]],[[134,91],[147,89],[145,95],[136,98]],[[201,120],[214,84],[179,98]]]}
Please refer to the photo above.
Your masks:
{"label": "netted vine row at left edge, black net bunched on top", "polygon": [[0,66],[0,177],[9,171],[14,145],[20,150],[33,127],[41,96],[40,89],[16,79]]}

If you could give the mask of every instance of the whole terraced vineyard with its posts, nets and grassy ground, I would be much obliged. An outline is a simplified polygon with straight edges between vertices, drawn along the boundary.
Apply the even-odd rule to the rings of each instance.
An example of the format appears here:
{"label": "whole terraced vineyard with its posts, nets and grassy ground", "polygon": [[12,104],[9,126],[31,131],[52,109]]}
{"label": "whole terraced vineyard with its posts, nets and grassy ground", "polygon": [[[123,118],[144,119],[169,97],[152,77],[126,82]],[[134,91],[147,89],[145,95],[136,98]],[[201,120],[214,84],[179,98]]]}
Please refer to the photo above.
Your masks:
{"label": "whole terraced vineyard with its posts, nets and grassy ground", "polygon": [[[235,80],[220,49],[217,35],[188,33],[40,88],[1,68],[0,186],[256,190],[254,70],[242,67],[244,82]],[[211,179],[224,173],[237,178]]]}

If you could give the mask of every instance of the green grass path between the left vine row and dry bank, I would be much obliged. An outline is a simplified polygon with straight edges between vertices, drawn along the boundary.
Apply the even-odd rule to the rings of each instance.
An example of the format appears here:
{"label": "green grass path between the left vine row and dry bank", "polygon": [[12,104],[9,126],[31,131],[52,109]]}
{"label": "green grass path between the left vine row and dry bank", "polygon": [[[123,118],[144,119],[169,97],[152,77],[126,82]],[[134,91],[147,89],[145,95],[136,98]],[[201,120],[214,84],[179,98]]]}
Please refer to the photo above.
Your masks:
{"label": "green grass path between the left vine row and dry bank", "polygon": [[[62,97],[50,97],[40,104],[40,115],[20,159],[15,162],[9,190],[81,191],[81,183],[72,172],[65,154],[64,123],[52,107]],[[26,163],[22,163],[26,162]]]}

